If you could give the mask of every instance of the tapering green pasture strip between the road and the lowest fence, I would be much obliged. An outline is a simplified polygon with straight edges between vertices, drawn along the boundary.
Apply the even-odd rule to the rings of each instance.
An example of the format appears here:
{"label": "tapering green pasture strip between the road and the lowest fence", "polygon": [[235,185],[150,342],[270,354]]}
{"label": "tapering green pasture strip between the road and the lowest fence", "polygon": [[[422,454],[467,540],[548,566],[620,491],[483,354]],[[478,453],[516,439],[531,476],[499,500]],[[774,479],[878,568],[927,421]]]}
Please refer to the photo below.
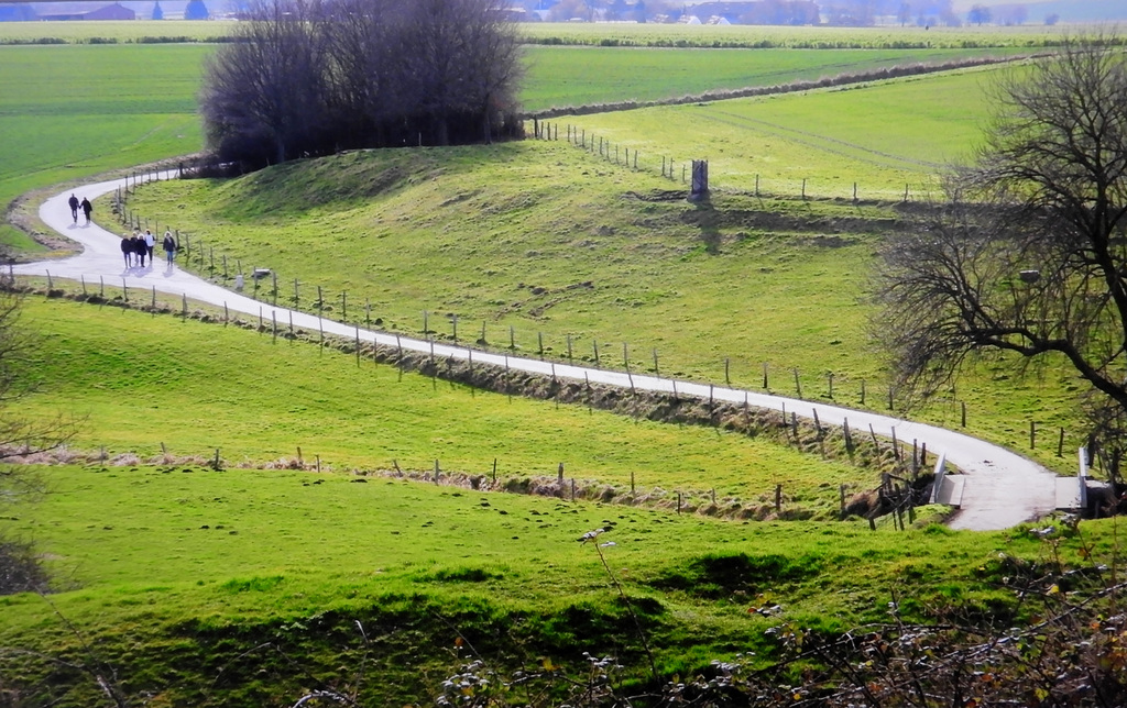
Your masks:
{"label": "tapering green pasture strip between the road and the lowest fence", "polygon": [[397,460],[426,472],[440,459],[447,473],[479,475],[496,459],[500,477],[516,478],[551,476],[564,463],[580,483],[629,489],[633,476],[647,491],[715,489],[745,502],[784,482],[788,500],[819,514],[836,512],[840,484],[872,485],[871,470],[766,440],[476,392],[233,326],[34,298],[27,307],[50,334],[41,389],[23,410],[82,416],[81,450],[153,458],[167,443],[172,455],[221,448],[229,464],[261,465],[301,448],[336,469]]}

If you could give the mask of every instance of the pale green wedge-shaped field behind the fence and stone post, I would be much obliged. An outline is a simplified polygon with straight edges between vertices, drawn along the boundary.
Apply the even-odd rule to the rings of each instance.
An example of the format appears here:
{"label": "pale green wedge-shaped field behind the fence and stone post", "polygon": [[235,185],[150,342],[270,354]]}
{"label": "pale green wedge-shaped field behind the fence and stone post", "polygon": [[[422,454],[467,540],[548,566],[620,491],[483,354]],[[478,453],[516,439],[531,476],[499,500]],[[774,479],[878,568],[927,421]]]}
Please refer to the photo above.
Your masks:
{"label": "pale green wedge-shaped field behind the fence and stone post", "polygon": [[[1006,69],[964,70],[800,95],[710,101],[561,118],[588,136],[681,167],[709,161],[717,189],[811,198],[924,198],[952,161],[971,156],[986,92]],[[825,119],[824,116],[833,116]],[[566,128],[565,128],[566,132]],[[624,154],[624,152],[622,153]],[[632,164],[632,160],[631,160]]]}

